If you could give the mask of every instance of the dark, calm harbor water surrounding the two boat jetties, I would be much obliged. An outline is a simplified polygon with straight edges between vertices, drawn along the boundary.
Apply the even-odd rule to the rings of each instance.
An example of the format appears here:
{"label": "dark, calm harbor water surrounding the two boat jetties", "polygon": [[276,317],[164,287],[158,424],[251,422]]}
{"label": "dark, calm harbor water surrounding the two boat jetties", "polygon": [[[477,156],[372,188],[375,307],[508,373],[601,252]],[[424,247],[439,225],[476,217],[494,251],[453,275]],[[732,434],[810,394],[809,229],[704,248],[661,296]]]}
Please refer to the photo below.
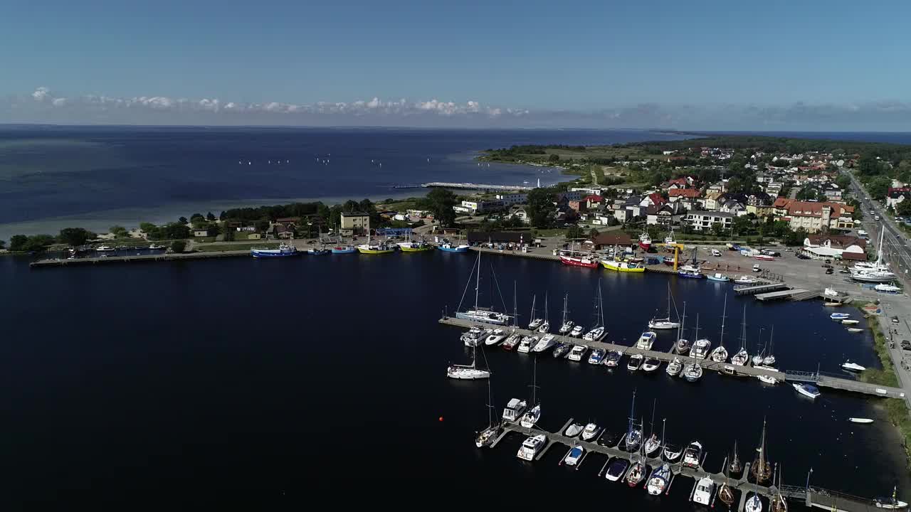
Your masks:
{"label": "dark, calm harbor water surrounding the two boat jetties", "polygon": [[[486,383],[445,378],[447,362],[465,362],[468,352],[457,329],[436,322],[457,306],[474,262],[436,251],[29,271],[24,259],[0,258],[7,485],[36,498],[86,488],[279,492],[309,486],[317,467],[325,478],[373,467],[373,477],[442,485],[462,486],[467,475],[527,477],[555,492],[578,485],[625,509],[690,510],[687,479],[656,499],[596,478],[599,456],[572,471],[558,466],[565,453],[558,446],[537,463],[520,463],[518,435],[494,450],[475,448]],[[490,300],[491,266],[510,309],[517,283],[525,321],[533,293],[538,304],[548,294],[557,322],[568,292],[570,316],[589,323],[600,278],[608,339],[631,344],[663,312],[670,283],[679,307],[687,304],[688,326],[698,313],[701,336],[719,339],[729,289],[720,283],[496,256],[483,262],[482,302]],[[499,304],[496,287],[494,296]],[[847,333],[820,302],[729,294],[730,348],[739,346],[744,304],[751,353],[759,330],[764,340],[774,325],[783,369],[818,363],[837,372],[845,359],[875,365],[869,335]],[[662,332],[656,347],[672,339]],[[530,356],[495,348],[486,361],[498,408],[527,395]],[[885,495],[896,483],[909,488],[898,437],[876,400],[823,389],[814,402],[755,379],[707,373],[688,384],[663,368],[649,376],[609,372],[549,355],[537,364],[537,384],[541,425],[551,430],[572,416],[622,432],[636,390],[636,415],[647,428],[657,401],[656,423],[667,418],[675,444],[700,440],[709,469],[722,465],[735,440],[742,459],[752,459],[764,417],[785,483],[804,484],[814,467],[812,484],[861,496]],[[876,423],[854,425],[849,416]],[[555,481],[559,487],[550,486]]]}

